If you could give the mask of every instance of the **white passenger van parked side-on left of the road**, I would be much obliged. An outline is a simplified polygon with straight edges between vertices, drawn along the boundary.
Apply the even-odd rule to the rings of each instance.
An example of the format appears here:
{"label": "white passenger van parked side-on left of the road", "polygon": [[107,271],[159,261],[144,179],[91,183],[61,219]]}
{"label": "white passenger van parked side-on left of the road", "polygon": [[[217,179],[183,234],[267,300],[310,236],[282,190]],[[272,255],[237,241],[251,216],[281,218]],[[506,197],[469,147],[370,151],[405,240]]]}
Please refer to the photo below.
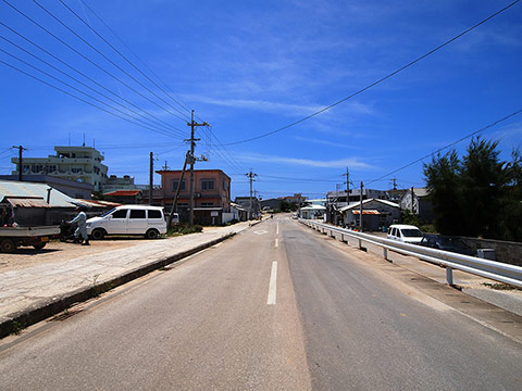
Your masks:
{"label": "white passenger van parked side-on left of the road", "polygon": [[156,239],[166,232],[163,207],[149,205],[122,205],[87,220],[87,235],[103,239],[105,235],[145,235]]}

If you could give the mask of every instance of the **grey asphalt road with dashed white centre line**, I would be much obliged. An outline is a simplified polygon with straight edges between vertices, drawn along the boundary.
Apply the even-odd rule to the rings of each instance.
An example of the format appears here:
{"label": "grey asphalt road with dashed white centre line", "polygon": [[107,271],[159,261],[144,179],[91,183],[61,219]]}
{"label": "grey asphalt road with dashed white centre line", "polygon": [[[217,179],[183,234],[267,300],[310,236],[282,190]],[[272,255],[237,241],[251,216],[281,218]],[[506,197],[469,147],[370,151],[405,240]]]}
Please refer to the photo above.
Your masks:
{"label": "grey asphalt road with dashed white centre line", "polygon": [[519,342],[343,245],[265,222],[2,341],[0,389],[522,389]]}

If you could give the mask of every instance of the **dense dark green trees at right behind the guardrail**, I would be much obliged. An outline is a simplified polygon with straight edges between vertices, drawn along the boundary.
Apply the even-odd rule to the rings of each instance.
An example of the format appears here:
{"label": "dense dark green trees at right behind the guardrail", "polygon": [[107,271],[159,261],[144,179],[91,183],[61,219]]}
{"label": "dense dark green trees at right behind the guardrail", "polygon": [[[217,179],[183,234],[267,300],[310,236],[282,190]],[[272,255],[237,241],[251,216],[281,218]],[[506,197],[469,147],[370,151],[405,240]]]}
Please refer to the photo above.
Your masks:
{"label": "dense dark green trees at right behind the guardrail", "polygon": [[438,232],[522,241],[522,154],[499,154],[498,141],[478,137],[462,157],[452,150],[424,164]]}

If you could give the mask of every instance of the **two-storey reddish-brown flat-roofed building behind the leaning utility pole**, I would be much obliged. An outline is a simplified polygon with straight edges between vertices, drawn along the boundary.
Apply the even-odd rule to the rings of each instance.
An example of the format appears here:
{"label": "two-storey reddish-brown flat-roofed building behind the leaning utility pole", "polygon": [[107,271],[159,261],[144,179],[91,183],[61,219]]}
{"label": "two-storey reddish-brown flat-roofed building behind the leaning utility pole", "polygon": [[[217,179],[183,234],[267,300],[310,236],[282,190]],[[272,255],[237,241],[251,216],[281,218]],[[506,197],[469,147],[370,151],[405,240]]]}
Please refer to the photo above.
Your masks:
{"label": "two-storey reddish-brown flat-roofed building behind the leaning utility pole", "polygon": [[[156,202],[167,210],[174,203],[179,188],[177,213],[182,220],[188,220],[190,202],[190,174],[182,171],[158,171],[161,175],[161,199]],[[223,213],[231,212],[231,177],[221,169],[194,171],[194,223],[200,225],[223,224]]]}

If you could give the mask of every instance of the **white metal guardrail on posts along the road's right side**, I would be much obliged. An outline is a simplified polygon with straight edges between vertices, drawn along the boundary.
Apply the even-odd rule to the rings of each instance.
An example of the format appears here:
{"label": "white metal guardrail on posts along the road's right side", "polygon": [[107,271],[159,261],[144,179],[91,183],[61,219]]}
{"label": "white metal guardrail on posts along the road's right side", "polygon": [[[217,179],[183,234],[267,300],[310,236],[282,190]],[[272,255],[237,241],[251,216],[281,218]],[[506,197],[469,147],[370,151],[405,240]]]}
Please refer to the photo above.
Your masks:
{"label": "white metal guardrail on posts along the road's right side", "polygon": [[467,272],[476,276],[486,277],[495,281],[508,283],[518,288],[522,288],[521,266],[509,265],[501,262],[483,260],[475,256],[462,255],[449,251],[442,251],[417,244],[402,243],[397,240],[384,239],[375,237],[373,235],[334,227],[314,220],[300,218],[299,222],[315,230],[322,231],[323,234],[330,234],[331,237],[340,235],[341,241],[345,241],[345,237],[357,239],[359,241],[359,248],[363,248],[363,243],[371,243],[381,247],[383,249],[383,257],[386,261],[389,261],[389,250],[445,266],[446,280],[450,286],[453,285],[452,270],[456,269]]}

